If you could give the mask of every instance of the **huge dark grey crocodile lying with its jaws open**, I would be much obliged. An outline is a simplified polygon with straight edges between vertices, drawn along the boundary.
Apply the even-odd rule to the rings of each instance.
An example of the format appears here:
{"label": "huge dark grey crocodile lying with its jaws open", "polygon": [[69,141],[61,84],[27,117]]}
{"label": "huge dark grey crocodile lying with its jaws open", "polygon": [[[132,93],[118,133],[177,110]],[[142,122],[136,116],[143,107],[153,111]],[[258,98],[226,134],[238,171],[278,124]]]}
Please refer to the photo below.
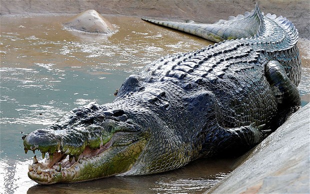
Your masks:
{"label": "huge dark grey crocodile lying with its jaws open", "polygon": [[144,19],[212,40],[167,55],[124,80],[111,103],[74,108],[22,137],[39,150],[40,184],[173,170],[249,150],[300,107],[298,33],[286,18],[250,12],[214,24]]}

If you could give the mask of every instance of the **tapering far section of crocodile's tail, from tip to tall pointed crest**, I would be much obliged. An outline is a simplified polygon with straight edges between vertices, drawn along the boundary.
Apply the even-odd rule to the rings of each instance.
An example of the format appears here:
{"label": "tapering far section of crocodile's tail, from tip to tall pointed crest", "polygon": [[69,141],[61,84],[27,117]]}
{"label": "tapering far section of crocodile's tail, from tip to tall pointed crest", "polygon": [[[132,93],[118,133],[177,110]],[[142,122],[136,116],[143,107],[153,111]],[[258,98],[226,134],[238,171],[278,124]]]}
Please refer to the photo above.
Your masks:
{"label": "tapering far section of crocodile's tail, from tip to tall pointed crest", "polygon": [[227,21],[220,20],[214,24],[169,22],[147,18],[142,18],[142,20],[186,32],[216,43],[224,40],[259,36],[264,32],[263,16],[257,4],[250,13],[245,12],[244,15],[231,16]]}

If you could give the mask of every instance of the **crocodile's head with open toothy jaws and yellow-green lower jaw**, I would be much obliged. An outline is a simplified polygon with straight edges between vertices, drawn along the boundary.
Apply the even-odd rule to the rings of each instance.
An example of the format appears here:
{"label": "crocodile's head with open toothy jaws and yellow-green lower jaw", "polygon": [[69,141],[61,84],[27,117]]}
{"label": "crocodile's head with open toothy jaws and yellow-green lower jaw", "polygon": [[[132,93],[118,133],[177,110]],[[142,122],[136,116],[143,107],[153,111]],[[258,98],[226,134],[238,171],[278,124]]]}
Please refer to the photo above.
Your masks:
{"label": "crocodile's head with open toothy jaws and yellow-green lower jaw", "polygon": [[41,184],[77,182],[122,174],[132,168],[147,142],[147,131],[123,109],[90,103],[55,124],[23,137],[24,150],[39,150],[28,176]]}

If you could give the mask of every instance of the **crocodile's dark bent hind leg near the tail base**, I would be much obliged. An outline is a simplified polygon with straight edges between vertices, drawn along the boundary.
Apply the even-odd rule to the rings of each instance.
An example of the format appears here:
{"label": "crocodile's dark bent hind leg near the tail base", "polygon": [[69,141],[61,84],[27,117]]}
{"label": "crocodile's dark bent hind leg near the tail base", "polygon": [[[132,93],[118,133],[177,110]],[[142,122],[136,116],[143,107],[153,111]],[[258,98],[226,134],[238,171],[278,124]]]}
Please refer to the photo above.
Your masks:
{"label": "crocodile's dark bent hind leg near the tail base", "polygon": [[281,125],[290,113],[295,112],[301,105],[297,87],[287,77],[283,66],[277,61],[265,65],[265,77],[277,99],[278,125]]}

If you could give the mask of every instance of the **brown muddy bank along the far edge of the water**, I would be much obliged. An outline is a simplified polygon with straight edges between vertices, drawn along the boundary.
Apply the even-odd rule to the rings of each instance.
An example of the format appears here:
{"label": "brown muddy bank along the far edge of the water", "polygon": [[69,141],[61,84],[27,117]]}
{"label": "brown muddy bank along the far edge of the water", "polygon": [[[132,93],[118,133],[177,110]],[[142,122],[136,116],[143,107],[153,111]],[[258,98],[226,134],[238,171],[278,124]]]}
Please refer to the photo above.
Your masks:
{"label": "brown muddy bank along the far edge of the water", "polygon": [[78,14],[86,10],[96,10],[100,14],[147,16],[167,19],[191,19],[195,22],[213,23],[228,16],[251,11],[255,2],[264,13],[284,16],[294,23],[299,36],[308,38],[310,35],[310,2],[308,0],[108,0],[108,1],[1,1],[0,15],[28,14]]}

